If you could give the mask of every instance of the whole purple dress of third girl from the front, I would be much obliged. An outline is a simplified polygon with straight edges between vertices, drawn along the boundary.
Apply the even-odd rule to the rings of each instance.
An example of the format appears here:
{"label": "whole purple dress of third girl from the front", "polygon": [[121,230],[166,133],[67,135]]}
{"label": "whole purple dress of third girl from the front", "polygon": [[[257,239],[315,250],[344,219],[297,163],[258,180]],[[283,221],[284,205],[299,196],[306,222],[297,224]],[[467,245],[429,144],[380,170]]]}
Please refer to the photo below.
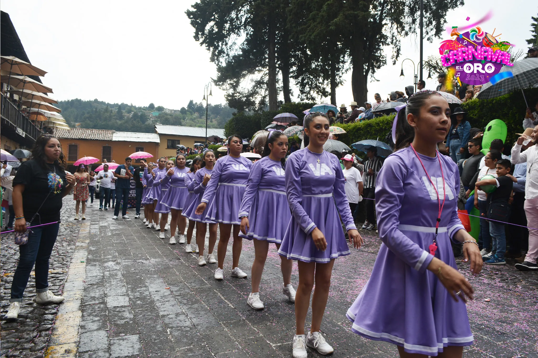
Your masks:
{"label": "whole purple dress of third girl from the front", "polygon": [[264,157],[252,164],[239,217],[248,216],[250,229],[239,236],[280,244],[291,213],[286,198],[286,178],[280,160]]}

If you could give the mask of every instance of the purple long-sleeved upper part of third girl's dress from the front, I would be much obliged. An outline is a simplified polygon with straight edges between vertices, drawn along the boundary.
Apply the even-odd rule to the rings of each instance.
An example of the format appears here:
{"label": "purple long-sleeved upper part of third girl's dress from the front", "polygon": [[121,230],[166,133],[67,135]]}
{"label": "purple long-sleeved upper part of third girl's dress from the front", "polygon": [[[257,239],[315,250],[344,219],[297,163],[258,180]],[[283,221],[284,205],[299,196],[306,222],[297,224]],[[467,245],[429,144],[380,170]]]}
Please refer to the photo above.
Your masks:
{"label": "purple long-sleeved upper part of third girl's dress from the front", "polygon": [[245,194],[239,208],[239,217],[249,216],[252,201],[258,189],[286,194],[286,177],[280,160],[264,157],[252,164]]}

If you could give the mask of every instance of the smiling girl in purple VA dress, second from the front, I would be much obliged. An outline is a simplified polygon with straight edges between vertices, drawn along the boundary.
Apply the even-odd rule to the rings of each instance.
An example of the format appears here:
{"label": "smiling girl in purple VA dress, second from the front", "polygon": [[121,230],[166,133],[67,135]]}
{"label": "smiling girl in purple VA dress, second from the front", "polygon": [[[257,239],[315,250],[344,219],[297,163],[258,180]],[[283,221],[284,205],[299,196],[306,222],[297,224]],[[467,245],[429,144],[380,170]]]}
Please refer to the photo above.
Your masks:
{"label": "smiling girl in purple VA dress, second from the front", "polygon": [[[323,150],[329,138],[329,120],[319,112],[305,117],[305,144],[286,162],[286,193],[292,218],[278,253],[298,260],[299,285],[295,296],[296,332],[293,356],[307,357],[306,346],[320,354],[334,350],[320,331],[331,283],[332,266],[337,257],[349,255],[340,218],[350,242],[360,247],[360,237],[344,190],[344,173],[338,158]],[[338,216],[339,214],[339,216]],[[305,337],[305,319],[312,298],[312,325]]]}

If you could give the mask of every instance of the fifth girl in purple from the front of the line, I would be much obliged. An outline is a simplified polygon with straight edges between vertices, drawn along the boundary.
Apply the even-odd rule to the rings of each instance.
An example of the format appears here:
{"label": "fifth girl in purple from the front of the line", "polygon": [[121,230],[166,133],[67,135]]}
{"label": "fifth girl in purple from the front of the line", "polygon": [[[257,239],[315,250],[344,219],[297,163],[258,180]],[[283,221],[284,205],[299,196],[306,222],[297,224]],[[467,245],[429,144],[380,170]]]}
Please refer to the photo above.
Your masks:
{"label": "fifth girl in purple from the front of the line", "polygon": [[[196,174],[194,174],[194,180],[192,185],[194,192],[193,200],[187,207],[187,209],[183,210],[182,214],[189,218],[189,222],[196,222],[196,247],[198,248],[196,252],[199,252],[198,264],[201,266],[206,265],[207,262],[209,262],[209,264],[215,264],[217,262],[217,260],[215,259],[215,255],[213,254],[213,249],[215,249],[215,243],[217,242],[217,223],[207,219],[206,214],[208,208],[206,208],[206,210],[204,210],[202,213],[196,214],[196,208],[199,206],[200,201],[202,200],[202,196],[204,191],[206,190],[209,179],[211,179],[211,173],[213,173],[214,165],[215,153],[213,152],[213,150],[204,151],[202,167],[196,171]],[[204,246],[206,245],[206,232],[208,224],[209,254],[207,256],[206,262],[206,259],[204,259],[203,250]],[[185,249],[185,252],[187,252],[187,249]],[[192,252],[192,250],[190,252]]]}

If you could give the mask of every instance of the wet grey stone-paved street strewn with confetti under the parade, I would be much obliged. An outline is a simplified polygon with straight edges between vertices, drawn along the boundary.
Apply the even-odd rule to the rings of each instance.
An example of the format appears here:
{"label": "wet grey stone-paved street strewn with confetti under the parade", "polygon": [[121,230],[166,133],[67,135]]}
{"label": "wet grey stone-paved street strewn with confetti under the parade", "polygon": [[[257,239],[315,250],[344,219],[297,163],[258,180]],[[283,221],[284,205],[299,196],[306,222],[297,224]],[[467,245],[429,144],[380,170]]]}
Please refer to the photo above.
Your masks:
{"label": "wet grey stone-paved street strewn with confetti under the parade", "polygon": [[[185,245],[169,245],[142,219],[112,220],[112,212],[88,207],[85,221],[73,221],[71,196],[64,199],[62,224],[51,258],[50,284],[66,302],[32,302],[33,276],[19,319],[2,319],[1,355],[6,357],[291,357],[294,306],[282,295],[280,259],[270,246],[260,297],[254,311],[250,293],[253,244],[243,240],[239,267],[249,277],[230,276],[231,245],[224,280],[213,279],[216,264],[197,265]],[[376,259],[380,240],[362,230],[365,246],[336,260],[322,331],[335,348],[332,357],[395,357],[391,344],[351,332],[345,312]],[[2,235],[2,316],[9,305],[18,249]],[[215,250],[216,253],[216,250]],[[469,275],[476,299],[468,304],[475,344],[464,357],[538,357],[538,275],[519,272],[513,262],[485,266]],[[69,272],[68,272],[69,269]],[[294,264],[292,283],[298,282]],[[489,299],[489,301],[485,301]],[[307,317],[307,326],[310,313]],[[54,325],[54,326],[52,326]],[[309,357],[320,356],[309,349]]]}

